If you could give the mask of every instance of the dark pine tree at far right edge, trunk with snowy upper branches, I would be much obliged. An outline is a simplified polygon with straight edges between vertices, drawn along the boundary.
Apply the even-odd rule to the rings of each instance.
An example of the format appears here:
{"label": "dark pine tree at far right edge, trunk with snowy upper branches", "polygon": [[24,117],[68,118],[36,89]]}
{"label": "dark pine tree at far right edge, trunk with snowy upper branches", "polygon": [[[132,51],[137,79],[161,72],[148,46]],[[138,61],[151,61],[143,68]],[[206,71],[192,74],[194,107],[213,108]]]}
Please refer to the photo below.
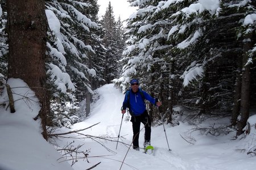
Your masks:
{"label": "dark pine tree at far right edge, trunk with snowy upper branches", "polygon": [[[237,2],[240,5],[241,2]],[[256,21],[248,20],[253,16],[256,16],[256,3],[255,2],[247,2],[246,5],[237,7],[234,4],[232,7],[237,8],[237,11],[242,14],[245,19],[244,22],[241,24],[241,27],[238,28],[238,37],[242,39],[242,65],[241,68],[241,90],[239,89],[236,93],[241,92],[241,101],[240,103],[240,114],[241,117],[237,120],[237,135],[243,133],[243,128],[245,128],[247,124],[247,119],[249,118],[250,113],[250,99],[253,99],[251,95],[251,72],[253,72],[253,67],[255,64],[253,62],[253,58],[255,58],[255,46],[256,46]],[[247,18],[247,19],[246,19]],[[255,69],[254,69],[255,70]],[[254,71],[255,73],[255,71]],[[240,76],[240,75],[237,75]],[[239,99],[238,99],[239,100]],[[255,97],[253,99],[255,101]],[[233,120],[238,116],[238,114],[233,114]],[[233,122],[234,123],[234,122]]]}

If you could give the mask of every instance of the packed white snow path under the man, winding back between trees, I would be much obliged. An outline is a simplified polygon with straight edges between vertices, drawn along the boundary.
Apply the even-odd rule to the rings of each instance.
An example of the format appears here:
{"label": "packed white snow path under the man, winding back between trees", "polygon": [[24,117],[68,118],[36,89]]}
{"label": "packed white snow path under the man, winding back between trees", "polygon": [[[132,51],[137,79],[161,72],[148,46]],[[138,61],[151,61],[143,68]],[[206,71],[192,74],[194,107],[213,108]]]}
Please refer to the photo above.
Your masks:
{"label": "packed white snow path under the man, winding back between trees", "polygon": [[[100,124],[84,130],[82,133],[97,137],[103,136],[112,139],[113,141],[117,141],[122,120],[121,106],[124,95],[120,90],[114,87],[114,84],[106,84],[99,88],[98,94],[100,95],[100,99],[93,104],[90,116],[86,118],[85,121],[73,125],[72,130],[84,129],[100,122]],[[191,126],[185,124],[180,124],[175,127],[166,125],[166,133],[172,151],[168,151],[163,126],[152,127],[151,145],[156,148],[154,155],[143,154],[142,150],[129,150],[133,131],[131,122],[125,121],[126,116],[127,113],[123,117],[119,138],[119,142],[122,143],[118,143],[117,150],[115,150],[117,142],[103,139],[98,143],[92,139],[76,141],[76,143],[80,142],[81,145],[85,144],[84,148],[86,150],[90,149],[88,157],[89,163],[86,162],[86,160],[79,160],[79,162],[73,165],[73,168],[76,170],[87,169],[99,162],[101,163],[94,169],[228,170],[234,169],[235,167],[239,168],[237,165],[232,165],[236,162],[235,160],[234,162],[228,162],[227,157],[236,158],[235,154],[241,156],[240,153],[233,151],[232,147],[229,146],[228,137],[224,137],[225,142],[217,143],[217,145],[215,145],[216,139],[212,137],[204,137],[206,138],[206,141],[203,139],[203,142],[199,142],[200,145],[190,145],[180,137],[180,134],[185,135],[184,132],[191,128]],[[141,129],[139,144],[142,147],[144,135],[142,124]],[[201,135],[199,135],[199,137],[201,137]],[[127,145],[123,145],[123,143],[126,143]],[[228,148],[226,148],[227,146]],[[226,148],[226,150],[223,148]],[[124,163],[122,164],[123,160]],[[248,161],[250,164],[251,160]],[[243,165],[240,164],[240,167],[242,166]]]}

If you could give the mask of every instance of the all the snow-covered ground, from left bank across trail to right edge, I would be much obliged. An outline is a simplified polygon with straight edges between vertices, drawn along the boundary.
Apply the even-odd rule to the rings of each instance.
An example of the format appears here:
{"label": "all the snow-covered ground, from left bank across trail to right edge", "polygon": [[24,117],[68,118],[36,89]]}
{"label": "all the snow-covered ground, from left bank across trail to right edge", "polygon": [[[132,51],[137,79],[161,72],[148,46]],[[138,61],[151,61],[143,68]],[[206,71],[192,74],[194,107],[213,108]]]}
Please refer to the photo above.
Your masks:
{"label": "all the snow-covered ground, from left bank across trail to right edge", "polygon": [[[19,84],[19,86],[23,85]],[[203,135],[200,131],[191,131],[195,127],[185,122],[180,122],[174,127],[164,126],[172,151],[168,151],[163,126],[152,127],[151,144],[155,146],[155,151],[153,155],[148,155],[143,154],[142,150],[129,149],[133,133],[131,122],[125,121],[127,116],[125,114],[119,138],[120,143],[117,146],[115,141],[117,141],[122,120],[120,108],[124,95],[113,84],[106,84],[99,88],[98,94],[100,94],[100,99],[92,106],[92,112],[86,120],[73,125],[71,129],[62,128],[55,133],[85,129],[100,122],[98,125],[76,134],[65,135],[69,138],[51,139],[59,145],[57,149],[63,146],[74,148],[81,145],[78,151],[89,154],[87,159],[78,155],[77,162],[72,166],[75,170],[88,169],[97,163],[100,164],[93,169],[255,169],[255,156],[246,154],[250,148],[255,146],[254,138],[234,140],[235,131],[216,137],[209,134]],[[31,105],[30,108],[32,108]],[[0,108],[1,170],[72,169],[67,162],[61,162],[63,159],[58,160],[61,154],[58,154],[51,145],[44,141],[40,135],[38,122],[32,120],[31,114],[27,114],[37,112],[36,108],[23,108],[15,113],[8,113],[8,111],[6,108]],[[214,122],[221,125],[227,124],[227,121],[229,120],[224,118]],[[214,122],[208,120],[201,126],[213,125]],[[141,129],[139,140],[142,146],[143,126]],[[255,134],[255,130],[251,131]],[[116,146],[117,149],[115,149]],[[65,156],[69,159],[69,164],[75,160],[75,155],[73,158],[69,154]]]}

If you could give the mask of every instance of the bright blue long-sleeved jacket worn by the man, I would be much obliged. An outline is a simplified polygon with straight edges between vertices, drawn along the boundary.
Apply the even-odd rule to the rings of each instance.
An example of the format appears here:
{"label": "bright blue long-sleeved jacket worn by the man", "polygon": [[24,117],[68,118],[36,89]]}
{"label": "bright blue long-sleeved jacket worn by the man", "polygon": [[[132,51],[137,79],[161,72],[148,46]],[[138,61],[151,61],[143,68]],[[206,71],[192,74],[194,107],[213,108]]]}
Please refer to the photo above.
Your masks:
{"label": "bright blue long-sleeved jacket worn by the man", "polygon": [[[144,103],[143,96],[141,95],[140,91],[143,93],[144,99],[156,105],[156,99],[148,95],[146,91],[143,91],[139,88],[139,90],[136,93],[134,93],[133,90],[130,89],[125,94],[122,109],[125,110],[126,108],[129,108],[131,116],[139,116],[142,113],[144,113],[144,111],[146,111],[146,104]],[[128,95],[130,95],[129,101]]]}

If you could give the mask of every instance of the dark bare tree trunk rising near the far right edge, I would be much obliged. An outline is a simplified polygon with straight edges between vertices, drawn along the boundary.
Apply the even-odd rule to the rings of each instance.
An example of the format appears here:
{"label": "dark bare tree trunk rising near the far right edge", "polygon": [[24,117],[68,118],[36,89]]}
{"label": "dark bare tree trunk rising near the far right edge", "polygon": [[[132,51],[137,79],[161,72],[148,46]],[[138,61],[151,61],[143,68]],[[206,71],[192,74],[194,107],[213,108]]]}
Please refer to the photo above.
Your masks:
{"label": "dark bare tree trunk rising near the far right edge", "polygon": [[[241,117],[237,122],[237,135],[243,133],[243,128],[246,126],[246,122],[249,118],[250,109],[250,63],[248,61],[248,50],[251,49],[251,33],[245,35],[243,46],[243,62],[242,62],[242,87],[241,87]],[[246,64],[247,63],[247,64]]]}

